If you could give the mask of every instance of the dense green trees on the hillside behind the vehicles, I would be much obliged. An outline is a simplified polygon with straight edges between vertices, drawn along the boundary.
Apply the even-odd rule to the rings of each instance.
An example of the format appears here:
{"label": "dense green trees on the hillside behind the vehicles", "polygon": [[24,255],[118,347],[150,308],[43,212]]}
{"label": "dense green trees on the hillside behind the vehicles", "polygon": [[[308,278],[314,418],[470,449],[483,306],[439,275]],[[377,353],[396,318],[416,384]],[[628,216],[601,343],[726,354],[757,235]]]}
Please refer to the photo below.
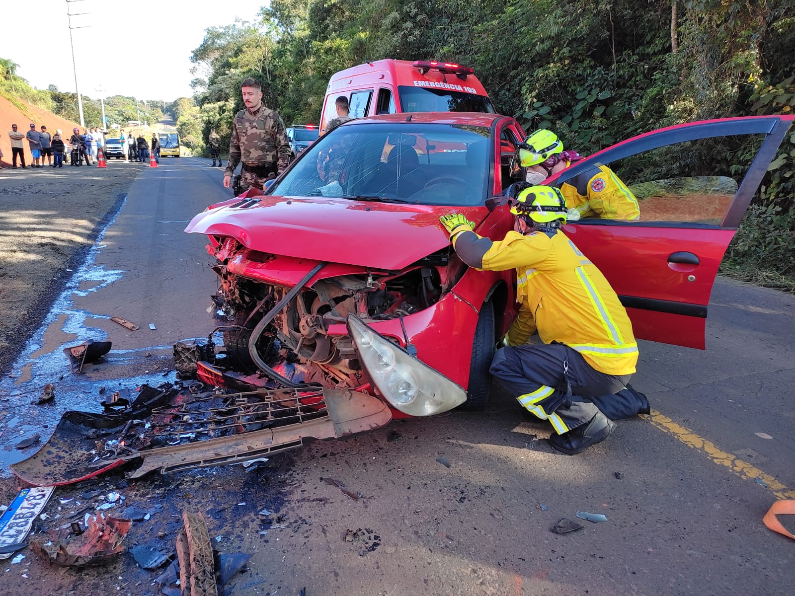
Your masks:
{"label": "dense green trees on the hillside behind the vehicles", "polygon": [[[192,54],[202,138],[211,126],[228,138],[246,76],[289,126],[318,121],[333,72],[384,57],[467,64],[498,111],[580,153],[795,107],[792,0],[272,0],[260,16],[207,29]],[[741,277],[793,288],[793,172],[795,133],[727,253]]]}

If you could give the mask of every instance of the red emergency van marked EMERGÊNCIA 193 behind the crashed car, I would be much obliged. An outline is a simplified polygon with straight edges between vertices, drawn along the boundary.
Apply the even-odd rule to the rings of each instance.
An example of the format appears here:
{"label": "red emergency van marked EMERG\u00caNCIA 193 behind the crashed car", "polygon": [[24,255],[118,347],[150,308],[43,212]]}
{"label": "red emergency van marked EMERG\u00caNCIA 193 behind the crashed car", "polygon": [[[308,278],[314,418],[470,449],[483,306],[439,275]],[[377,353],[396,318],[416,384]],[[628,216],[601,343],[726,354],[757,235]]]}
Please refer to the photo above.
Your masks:
{"label": "red emergency van marked EMERG\u00caNCIA 193 behind the crashed car", "polygon": [[474,71],[449,62],[387,58],[336,72],[326,87],[321,134],[337,117],[334,103],[340,95],[348,99],[351,118],[401,112],[495,113]]}

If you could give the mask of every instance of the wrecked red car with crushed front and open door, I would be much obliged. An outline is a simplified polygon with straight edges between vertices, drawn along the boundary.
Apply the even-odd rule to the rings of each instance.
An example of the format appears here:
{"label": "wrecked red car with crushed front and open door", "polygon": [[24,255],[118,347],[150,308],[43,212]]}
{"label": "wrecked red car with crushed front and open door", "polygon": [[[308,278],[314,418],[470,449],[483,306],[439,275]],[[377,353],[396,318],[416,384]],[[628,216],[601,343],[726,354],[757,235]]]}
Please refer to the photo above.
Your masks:
{"label": "wrecked red car with crushed front and open door", "polygon": [[[638,200],[638,220],[564,226],[611,281],[638,338],[704,348],[719,262],[792,121],[673,126],[547,180],[609,165]],[[483,408],[516,273],[463,265],[439,217],[462,212],[490,238],[512,229],[495,197],[518,181],[511,164],[524,137],[498,114],[361,118],[301,153],[266,194],[196,215],[185,231],[210,238],[228,360],[249,373],[235,378],[368,393],[394,416]],[[202,365],[202,374],[223,370]]]}

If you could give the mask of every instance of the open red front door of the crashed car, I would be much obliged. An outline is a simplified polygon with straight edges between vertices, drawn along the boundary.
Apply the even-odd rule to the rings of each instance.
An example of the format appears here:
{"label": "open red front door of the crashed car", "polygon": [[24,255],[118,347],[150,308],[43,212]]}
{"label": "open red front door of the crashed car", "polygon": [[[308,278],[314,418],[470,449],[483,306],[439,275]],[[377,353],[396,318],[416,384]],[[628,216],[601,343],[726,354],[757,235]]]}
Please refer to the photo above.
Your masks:
{"label": "open red front door of the crashed car", "polygon": [[655,130],[542,183],[582,213],[564,230],[619,294],[638,339],[704,349],[718,265],[793,118]]}

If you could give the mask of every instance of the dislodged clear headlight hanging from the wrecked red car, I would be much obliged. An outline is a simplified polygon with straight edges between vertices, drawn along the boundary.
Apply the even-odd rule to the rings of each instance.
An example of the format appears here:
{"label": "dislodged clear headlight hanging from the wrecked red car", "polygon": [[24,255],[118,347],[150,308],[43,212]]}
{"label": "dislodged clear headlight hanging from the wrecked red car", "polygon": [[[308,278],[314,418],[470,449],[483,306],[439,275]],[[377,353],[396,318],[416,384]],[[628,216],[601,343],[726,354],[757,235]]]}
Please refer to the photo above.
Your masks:
{"label": "dislodged clear headlight hanging from the wrecked red car", "polygon": [[347,328],[370,381],[397,410],[409,416],[432,416],[467,401],[460,385],[413,358],[356,315],[348,315]]}

